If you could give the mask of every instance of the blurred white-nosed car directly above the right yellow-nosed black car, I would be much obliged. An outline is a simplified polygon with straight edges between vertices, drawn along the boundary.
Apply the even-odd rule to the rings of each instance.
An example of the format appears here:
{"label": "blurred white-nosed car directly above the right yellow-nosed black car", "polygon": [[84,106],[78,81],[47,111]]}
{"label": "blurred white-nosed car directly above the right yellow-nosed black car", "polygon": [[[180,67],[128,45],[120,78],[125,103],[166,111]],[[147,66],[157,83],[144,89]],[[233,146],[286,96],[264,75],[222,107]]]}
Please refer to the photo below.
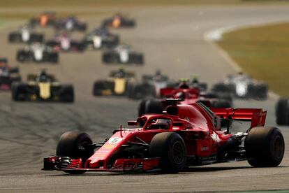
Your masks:
{"label": "blurred white-nosed car directly above the right yellow-nosed black car", "polygon": [[131,50],[131,45],[118,45],[116,48],[103,52],[105,64],[143,64],[142,53]]}

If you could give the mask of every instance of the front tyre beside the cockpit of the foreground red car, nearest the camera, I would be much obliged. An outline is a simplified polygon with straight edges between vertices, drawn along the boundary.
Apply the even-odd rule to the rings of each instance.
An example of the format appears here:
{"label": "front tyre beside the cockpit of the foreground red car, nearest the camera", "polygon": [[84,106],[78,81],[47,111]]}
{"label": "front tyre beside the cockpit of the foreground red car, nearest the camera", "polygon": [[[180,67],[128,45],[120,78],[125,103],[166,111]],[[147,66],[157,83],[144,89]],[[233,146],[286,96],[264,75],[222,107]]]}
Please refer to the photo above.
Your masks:
{"label": "front tyre beside the cockpit of the foreground red car, nearest the camera", "polygon": [[178,173],[186,164],[186,145],[183,138],[174,132],[156,134],[149,145],[150,157],[160,157],[163,173]]}

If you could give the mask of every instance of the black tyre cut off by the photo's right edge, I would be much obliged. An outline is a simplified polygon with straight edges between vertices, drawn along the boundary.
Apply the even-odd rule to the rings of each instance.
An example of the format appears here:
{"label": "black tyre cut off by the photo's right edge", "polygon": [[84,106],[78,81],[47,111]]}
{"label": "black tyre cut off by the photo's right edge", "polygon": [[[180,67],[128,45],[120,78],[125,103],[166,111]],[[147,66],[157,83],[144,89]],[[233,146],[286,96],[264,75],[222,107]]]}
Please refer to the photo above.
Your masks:
{"label": "black tyre cut off by the photo's right edge", "polygon": [[276,103],[276,123],[279,125],[289,124],[288,99],[279,99]]}

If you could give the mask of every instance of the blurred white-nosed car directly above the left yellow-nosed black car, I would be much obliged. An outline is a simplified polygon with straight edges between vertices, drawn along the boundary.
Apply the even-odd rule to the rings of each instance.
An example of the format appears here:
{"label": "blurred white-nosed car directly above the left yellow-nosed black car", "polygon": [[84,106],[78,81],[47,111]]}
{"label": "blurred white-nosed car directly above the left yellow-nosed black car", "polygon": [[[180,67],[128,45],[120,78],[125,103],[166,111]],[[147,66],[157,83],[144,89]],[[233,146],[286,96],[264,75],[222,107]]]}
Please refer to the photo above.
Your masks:
{"label": "blurred white-nosed car directly above the left yellow-nosed black car", "polygon": [[59,54],[43,43],[31,43],[26,48],[17,50],[18,62],[52,62],[58,63]]}

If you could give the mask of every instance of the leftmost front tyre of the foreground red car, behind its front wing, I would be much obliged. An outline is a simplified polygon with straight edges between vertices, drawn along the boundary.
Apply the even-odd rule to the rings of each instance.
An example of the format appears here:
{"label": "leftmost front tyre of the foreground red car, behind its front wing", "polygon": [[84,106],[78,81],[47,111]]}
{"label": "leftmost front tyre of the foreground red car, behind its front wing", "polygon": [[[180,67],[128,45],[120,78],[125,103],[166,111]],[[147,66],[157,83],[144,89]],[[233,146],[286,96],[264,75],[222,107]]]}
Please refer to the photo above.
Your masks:
{"label": "leftmost front tyre of the foreground red car, behind its front wing", "polygon": [[[89,147],[92,144],[88,134],[78,131],[68,131],[62,134],[57,144],[57,156],[70,157],[71,159],[82,159],[82,164],[94,154],[94,148]],[[84,165],[83,165],[84,166]],[[85,171],[65,171],[71,174],[81,174]]]}

